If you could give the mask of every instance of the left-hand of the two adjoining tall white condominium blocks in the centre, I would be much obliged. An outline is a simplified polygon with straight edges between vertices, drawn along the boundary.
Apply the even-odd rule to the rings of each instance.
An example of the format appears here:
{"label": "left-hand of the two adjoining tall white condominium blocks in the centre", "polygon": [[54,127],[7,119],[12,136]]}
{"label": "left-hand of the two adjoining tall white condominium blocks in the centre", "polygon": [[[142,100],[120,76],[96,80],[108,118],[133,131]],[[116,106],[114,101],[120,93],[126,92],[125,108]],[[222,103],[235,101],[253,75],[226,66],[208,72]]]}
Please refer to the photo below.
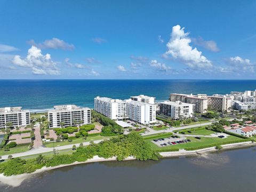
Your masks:
{"label": "left-hand of the two adjoining tall white condominium blocks in the centre", "polygon": [[110,119],[126,118],[126,102],[106,97],[94,98],[94,110]]}

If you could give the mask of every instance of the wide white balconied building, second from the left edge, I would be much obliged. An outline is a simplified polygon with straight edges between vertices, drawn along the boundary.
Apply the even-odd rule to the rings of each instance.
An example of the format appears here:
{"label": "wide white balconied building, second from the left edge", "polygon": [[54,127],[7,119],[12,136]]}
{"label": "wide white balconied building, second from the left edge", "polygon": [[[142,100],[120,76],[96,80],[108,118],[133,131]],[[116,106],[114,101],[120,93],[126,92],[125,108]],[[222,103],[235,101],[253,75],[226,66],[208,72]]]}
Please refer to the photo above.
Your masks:
{"label": "wide white balconied building, second from the left edge", "polygon": [[[91,123],[91,109],[77,107],[76,105],[54,106],[48,111],[49,127],[67,127],[77,124]],[[62,125],[63,123],[63,125]]]}

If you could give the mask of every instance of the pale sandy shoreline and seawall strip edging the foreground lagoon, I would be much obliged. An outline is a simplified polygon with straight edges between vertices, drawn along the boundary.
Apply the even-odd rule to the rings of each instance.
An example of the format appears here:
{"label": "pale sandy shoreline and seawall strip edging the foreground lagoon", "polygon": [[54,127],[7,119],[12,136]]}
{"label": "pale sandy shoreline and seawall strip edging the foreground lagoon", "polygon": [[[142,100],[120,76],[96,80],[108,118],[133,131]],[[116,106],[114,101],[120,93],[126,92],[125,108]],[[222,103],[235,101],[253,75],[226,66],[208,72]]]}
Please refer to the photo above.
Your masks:
{"label": "pale sandy shoreline and seawall strip edging the foreground lagoon", "polygon": [[[256,146],[256,143],[252,143],[251,141],[243,142],[243,143],[231,143],[227,145],[222,145],[221,150],[228,150],[228,149],[238,149],[238,148],[244,148],[244,147],[250,147],[250,146]],[[201,156],[206,153],[211,153],[215,151],[221,151],[218,149],[215,149],[215,147],[209,147],[209,148],[203,148],[203,149],[198,149],[198,150],[191,150],[191,151],[186,151],[186,150],[180,150],[180,151],[169,151],[169,152],[161,152],[159,153],[161,155],[161,158],[167,158],[167,157],[187,157],[187,156]],[[129,160],[135,160],[134,157],[127,157],[124,159],[124,161],[129,161]],[[71,164],[62,164],[58,166],[53,166],[53,167],[42,167],[39,170],[36,170],[33,173],[23,173],[19,175],[12,175],[12,176],[5,176],[3,173],[0,174],[0,183],[3,183],[5,185],[9,185],[12,187],[19,187],[21,183],[30,178],[32,175],[37,174],[37,173],[42,173],[45,171],[50,171],[54,169],[59,169],[61,167],[66,167],[66,166],[73,166],[73,165],[79,165],[79,164],[85,164],[85,163],[95,163],[95,162],[106,162],[106,161],[117,161],[116,157],[111,157],[111,158],[103,158],[99,156],[94,156],[91,159],[88,159],[85,162],[74,162]]]}

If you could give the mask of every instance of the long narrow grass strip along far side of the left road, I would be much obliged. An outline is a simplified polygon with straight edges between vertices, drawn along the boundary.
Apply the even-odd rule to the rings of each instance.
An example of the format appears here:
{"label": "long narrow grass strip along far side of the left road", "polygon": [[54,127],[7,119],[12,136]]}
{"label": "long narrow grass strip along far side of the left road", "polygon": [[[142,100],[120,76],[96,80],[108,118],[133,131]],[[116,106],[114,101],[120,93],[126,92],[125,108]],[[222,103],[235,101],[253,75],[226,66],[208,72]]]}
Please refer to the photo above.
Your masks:
{"label": "long narrow grass strip along far side of the left road", "polygon": [[97,135],[95,137],[87,137],[86,139],[84,138],[77,138],[73,139],[73,141],[60,141],[60,142],[46,142],[44,145],[46,147],[58,147],[58,146],[65,146],[65,145],[72,145],[76,143],[82,143],[82,142],[88,142],[88,141],[95,141],[95,140],[101,140],[101,139],[109,139],[111,137],[103,137],[101,135]]}

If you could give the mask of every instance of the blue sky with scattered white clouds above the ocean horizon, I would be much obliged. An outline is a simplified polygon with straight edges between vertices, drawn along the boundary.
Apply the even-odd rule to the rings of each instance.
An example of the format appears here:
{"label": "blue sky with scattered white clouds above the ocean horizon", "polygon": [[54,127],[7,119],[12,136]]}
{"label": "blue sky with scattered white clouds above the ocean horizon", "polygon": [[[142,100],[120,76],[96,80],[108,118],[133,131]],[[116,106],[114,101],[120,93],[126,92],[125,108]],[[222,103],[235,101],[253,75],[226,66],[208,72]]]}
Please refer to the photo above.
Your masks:
{"label": "blue sky with scattered white clouds above the ocean horizon", "polygon": [[1,79],[255,79],[256,1],[0,1]]}

